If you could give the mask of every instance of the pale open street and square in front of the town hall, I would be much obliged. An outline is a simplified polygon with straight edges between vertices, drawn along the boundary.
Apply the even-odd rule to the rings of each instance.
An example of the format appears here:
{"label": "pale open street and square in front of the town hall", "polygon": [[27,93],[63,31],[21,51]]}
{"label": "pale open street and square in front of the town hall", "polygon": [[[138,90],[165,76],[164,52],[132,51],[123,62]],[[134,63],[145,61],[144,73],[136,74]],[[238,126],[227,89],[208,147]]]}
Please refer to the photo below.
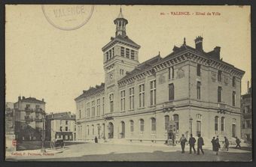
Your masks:
{"label": "pale open street and square in front of the town hall", "polygon": [[[7,156],[7,160],[32,161],[251,161],[251,151],[246,148],[220,151],[215,155],[210,147],[205,154],[189,154],[186,145],[185,154],[181,154],[180,145],[117,145],[82,143],[69,145],[64,151],[37,154],[36,151],[17,151],[19,155]],[[40,153],[40,152],[38,152]],[[23,156],[26,155],[26,156]],[[28,156],[29,155],[29,156]]]}

